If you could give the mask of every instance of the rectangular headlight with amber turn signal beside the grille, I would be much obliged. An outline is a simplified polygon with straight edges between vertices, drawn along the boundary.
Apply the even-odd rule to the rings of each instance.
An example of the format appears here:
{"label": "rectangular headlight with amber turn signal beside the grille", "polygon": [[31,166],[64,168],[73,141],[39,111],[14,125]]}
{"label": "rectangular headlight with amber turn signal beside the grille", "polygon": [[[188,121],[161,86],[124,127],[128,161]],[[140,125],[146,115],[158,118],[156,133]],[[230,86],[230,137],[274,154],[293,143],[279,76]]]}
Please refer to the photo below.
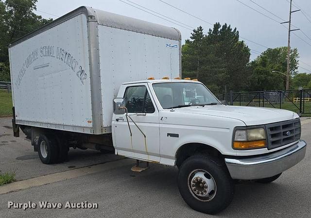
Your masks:
{"label": "rectangular headlight with amber turn signal beside the grille", "polygon": [[260,149],[267,146],[264,128],[241,129],[234,132],[233,149]]}

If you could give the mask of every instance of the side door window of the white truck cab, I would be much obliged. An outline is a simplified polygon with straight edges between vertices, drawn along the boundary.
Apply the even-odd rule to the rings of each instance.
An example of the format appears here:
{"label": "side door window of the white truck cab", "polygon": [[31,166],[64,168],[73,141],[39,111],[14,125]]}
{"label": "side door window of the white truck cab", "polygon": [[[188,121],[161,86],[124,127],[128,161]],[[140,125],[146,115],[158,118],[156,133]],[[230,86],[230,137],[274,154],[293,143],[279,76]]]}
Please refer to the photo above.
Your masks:
{"label": "side door window of the white truck cab", "polygon": [[151,101],[146,86],[127,87],[124,94],[125,107],[128,113],[154,113],[155,107]]}

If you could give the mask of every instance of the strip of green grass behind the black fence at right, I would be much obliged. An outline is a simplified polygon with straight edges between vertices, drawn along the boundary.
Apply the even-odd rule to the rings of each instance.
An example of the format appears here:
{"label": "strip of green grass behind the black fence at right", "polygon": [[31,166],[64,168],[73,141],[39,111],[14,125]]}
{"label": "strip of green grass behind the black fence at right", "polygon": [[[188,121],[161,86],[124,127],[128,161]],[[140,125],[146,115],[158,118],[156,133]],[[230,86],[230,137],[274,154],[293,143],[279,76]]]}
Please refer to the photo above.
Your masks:
{"label": "strip of green grass behind the black fence at right", "polygon": [[[241,102],[241,106],[246,106],[248,102]],[[235,101],[233,103],[234,105],[240,105],[240,102]],[[296,105],[296,106],[295,106]],[[250,102],[248,106],[256,106],[259,107],[259,102]],[[260,107],[262,107],[262,101],[260,103]],[[268,101],[264,101],[264,107],[270,107],[270,108],[280,108],[280,104],[270,104]],[[295,113],[300,113],[299,112],[299,102],[297,103],[292,103],[292,102],[283,102],[281,103],[281,109],[289,110],[289,111],[294,111]],[[305,110],[304,113],[302,114],[302,117],[311,117],[311,102],[305,101]]]}

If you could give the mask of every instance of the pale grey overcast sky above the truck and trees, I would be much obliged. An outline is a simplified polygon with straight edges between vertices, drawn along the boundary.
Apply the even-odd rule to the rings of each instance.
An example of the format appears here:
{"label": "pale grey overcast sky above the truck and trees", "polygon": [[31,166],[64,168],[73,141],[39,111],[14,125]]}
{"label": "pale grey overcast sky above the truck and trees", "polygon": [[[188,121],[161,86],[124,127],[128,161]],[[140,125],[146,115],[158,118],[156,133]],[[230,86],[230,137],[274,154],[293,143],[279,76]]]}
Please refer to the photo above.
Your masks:
{"label": "pale grey overcast sky above the truck and trees", "polygon": [[[183,44],[198,26],[207,33],[210,24],[227,23],[237,28],[240,40],[251,49],[251,60],[267,48],[288,43],[288,24],[279,22],[289,19],[289,0],[38,0],[35,13],[56,19],[82,5],[175,27],[181,32]],[[303,13],[292,13],[292,29],[301,31],[292,32],[291,47],[297,48],[300,55],[299,73],[311,73],[311,0],[293,0],[293,5],[292,11],[299,8]]]}

